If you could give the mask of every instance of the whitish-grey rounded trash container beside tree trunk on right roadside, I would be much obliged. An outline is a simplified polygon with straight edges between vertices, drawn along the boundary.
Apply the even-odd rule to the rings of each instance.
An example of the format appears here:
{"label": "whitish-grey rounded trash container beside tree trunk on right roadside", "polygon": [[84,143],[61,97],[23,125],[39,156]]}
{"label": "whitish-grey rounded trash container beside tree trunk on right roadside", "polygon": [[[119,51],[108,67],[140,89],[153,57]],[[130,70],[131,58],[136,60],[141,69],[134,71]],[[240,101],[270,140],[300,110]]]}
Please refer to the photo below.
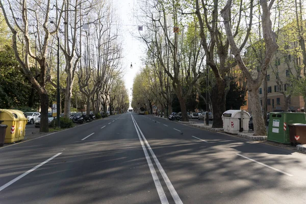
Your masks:
{"label": "whitish-grey rounded trash container beside tree trunk on right roadside", "polygon": [[[222,114],[224,132],[236,135],[248,132],[250,114],[246,111],[243,111],[243,114],[241,112],[242,110],[228,110]],[[243,125],[241,125],[241,120]]]}

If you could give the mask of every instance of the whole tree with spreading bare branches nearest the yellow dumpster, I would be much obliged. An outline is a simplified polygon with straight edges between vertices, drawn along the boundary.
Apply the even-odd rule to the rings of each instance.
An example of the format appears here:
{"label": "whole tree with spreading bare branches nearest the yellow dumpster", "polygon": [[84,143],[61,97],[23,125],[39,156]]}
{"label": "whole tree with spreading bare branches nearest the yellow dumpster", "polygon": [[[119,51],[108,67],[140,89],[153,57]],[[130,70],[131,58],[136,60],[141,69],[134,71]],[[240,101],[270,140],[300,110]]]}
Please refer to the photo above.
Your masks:
{"label": "whole tree with spreading bare branches nearest the yellow dumpster", "polygon": [[[46,90],[46,55],[48,49],[48,43],[50,36],[57,34],[58,28],[61,22],[62,13],[64,11],[65,0],[63,0],[62,7],[59,8],[58,4],[55,5],[56,11],[52,12],[52,15],[56,16],[57,24],[49,26],[50,19],[50,0],[45,4],[37,5],[36,3],[30,3],[28,7],[28,1],[23,0],[18,3],[16,6],[20,10],[16,10],[15,7],[12,7],[10,1],[7,1],[6,4],[3,1],[0,1],[0,6],[5,17],[5,21],[12,32],[12,44],[15,54],[15,58],[18,61],[20,67],[27,75],[29,81],[33,84],[34,88],[37,90],[40,96],[41,104],[41,122],[40,122],[40,131],[48,132],[48,108],[49,108],[49,98],[48,92]],[[8,16],[7,11],[11,11],[11,17]],[[39,15],[38,15],[39,12]],[[22,16],[22,17],[20,17]],[[34,22],[34,23],[33,23]],[[41,23],[43,22],[43,23]],[[31,26],[32,25],[32,26]],[[52,27],[52,28],[51,28]],[[38,36],[38,49],[37,54],[32,52],[32,39],[33,35]],[[21,36],[25,41],[25,52],[20,52],[18,48],[18,39]],[[23,48],[23,46],[22,46]],[[40,68],[40,80],[38,81],[32,70],[31,64],[33,61],[36,61],[39,64]]]}

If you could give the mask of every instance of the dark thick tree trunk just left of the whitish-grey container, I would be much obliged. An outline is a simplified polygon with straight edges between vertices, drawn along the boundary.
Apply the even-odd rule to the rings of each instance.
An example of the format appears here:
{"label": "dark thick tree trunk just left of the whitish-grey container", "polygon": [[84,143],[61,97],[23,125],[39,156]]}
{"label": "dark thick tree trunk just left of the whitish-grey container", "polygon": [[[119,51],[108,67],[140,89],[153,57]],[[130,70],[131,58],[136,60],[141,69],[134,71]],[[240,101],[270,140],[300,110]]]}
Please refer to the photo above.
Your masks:
{"label": "dark thick tree trunk just left of the whitish-grey container", "polygon": [[225,83],[216,83],[212,88],[213,128],[222,128],[222,114],[225,112]]}

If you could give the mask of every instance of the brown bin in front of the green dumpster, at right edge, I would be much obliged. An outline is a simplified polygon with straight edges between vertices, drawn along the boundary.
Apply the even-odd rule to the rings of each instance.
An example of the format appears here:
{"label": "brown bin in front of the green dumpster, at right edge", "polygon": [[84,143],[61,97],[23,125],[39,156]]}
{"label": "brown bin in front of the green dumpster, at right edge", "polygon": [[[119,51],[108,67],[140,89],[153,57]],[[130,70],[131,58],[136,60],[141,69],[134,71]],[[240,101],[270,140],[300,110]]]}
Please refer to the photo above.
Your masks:
{"label": "brown bin in front of the green dumpster, at right edge", "polygon": [[291,144],[306,144],[306,124],[289,124],[289,135]]}

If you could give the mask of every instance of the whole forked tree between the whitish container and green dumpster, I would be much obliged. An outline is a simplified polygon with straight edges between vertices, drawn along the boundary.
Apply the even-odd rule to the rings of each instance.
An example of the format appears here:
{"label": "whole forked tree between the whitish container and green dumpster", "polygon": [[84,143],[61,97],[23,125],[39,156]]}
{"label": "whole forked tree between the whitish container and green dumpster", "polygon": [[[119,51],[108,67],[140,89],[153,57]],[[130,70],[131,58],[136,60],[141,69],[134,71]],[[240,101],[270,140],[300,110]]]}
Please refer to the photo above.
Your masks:
{"label": "whole forked tree between the whitish container and green dumpster", "polygon": [[[221,16],[224,19],[224,27],[226,31],[226,35],[228,38],[229,43],[231,44],[231,51],[240,67],[242,72],[244,73],[246,79],[247,79],[247,89],[250,95],[250,104],[252,108],[253,113],[253,125],[254,125],[254,135],[266,135],[266,125],[264,122],[264,119],[262,117],[261,112],[261,104],[260,104],[260,98],[258,89],[260,85],[262,84],[266,69],[269,66],[270,60],[275,52],[275,50],[278,48],[278,45],[276,44],[276,35],[272,31],[272,23],[270,20],[270,9],[273,5],[274,1],[270,1],[269,5],[265,0],[260,0],[260,6],[262,9],[262,30],[263,30],[263,38],[265,41],[265,55],[263,63],[261,64],[261,71],[258,72],[257,78],[253,78],[251,73],[249,72],[248,68],[246,67],[242,56],[241,56],[241,50],[243,49],[245,43],[242,43],[240,47],[237,46],[235,42],[235,35],[232,33],[232,19],[230,18],[233,16],[232,14],[232,1],[228,0],[227,4],[223,8],[221,12]],[[251,0],[249,3],[249,23],[248,23],[248,29],[247,33],[245,35],[245,40],[243,42],[246,42],[246,39],[248,38],[248,35],[251,30],[252,25],[252,15],[253,15],[253,1]]]}

